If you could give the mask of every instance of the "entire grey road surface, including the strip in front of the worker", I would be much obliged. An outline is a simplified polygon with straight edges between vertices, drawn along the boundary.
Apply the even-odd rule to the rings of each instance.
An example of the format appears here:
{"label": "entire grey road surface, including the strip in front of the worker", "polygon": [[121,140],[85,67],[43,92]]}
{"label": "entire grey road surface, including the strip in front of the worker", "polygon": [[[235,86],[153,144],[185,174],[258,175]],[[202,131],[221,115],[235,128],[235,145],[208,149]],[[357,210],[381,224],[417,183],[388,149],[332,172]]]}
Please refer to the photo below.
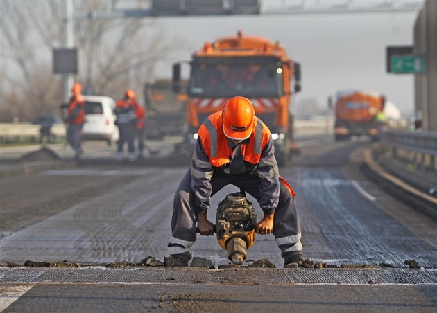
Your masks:
{"label": "entire grey road surface, including the strip in front of the worker", "polygon": [[[95,147],[77,167],[3,178],[0,264],[17,267],[0,267],[0,310],[436,312],[436,221],[366,178],[368,144],[308,141],[280,169],[297,194],[304,258],[323,269],[282,269],[273,235],[256,236],[246,265],[266,259],[275,268],[217,269],[227,253],[203,236],[192,252],[214,269],[133,266],[167,256],[187,165],[166,163],[164,153],[117,163]],[[234,191],[221,190],[212,207]]]}

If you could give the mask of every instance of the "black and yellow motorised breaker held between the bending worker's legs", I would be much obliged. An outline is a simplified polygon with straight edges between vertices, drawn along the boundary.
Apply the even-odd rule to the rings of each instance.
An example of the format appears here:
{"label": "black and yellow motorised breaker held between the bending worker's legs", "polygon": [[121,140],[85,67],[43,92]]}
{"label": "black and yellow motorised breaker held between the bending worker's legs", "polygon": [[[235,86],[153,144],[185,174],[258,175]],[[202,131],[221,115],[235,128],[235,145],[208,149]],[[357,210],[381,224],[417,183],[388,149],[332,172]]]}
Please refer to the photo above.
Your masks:
{"label": "black and yellow motorised breaker held between the bending worker's legs", "polygon": [[247,249],[255,241],[257,215],[244,190],[230,193],[220,202],[216,215],[216,234],[220,246],[228,251],[235,265],[243,264]]}

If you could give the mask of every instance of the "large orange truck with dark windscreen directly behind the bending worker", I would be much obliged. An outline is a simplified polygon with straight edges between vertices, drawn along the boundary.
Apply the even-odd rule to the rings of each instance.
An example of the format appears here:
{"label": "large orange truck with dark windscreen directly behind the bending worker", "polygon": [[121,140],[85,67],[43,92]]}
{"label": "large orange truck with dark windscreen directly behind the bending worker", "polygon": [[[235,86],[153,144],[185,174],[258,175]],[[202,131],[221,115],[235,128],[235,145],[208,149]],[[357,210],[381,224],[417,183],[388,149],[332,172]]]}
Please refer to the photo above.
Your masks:
{"label": "large orange truck with dark windscreen directly behind the bending worker", "polygon": [[[191,157],[203,120],[229,98],[244,96],[271,129],[278,164],[289,164],[298,150],[291,96],[300,91],[300,64],[289,59],[279,42],[238,31],[236,36],[205,42],[189,64],[185,138],[177,146],[178,154]],[[180,75],[181,63],[173,64],[174,91],[180,91]]]}

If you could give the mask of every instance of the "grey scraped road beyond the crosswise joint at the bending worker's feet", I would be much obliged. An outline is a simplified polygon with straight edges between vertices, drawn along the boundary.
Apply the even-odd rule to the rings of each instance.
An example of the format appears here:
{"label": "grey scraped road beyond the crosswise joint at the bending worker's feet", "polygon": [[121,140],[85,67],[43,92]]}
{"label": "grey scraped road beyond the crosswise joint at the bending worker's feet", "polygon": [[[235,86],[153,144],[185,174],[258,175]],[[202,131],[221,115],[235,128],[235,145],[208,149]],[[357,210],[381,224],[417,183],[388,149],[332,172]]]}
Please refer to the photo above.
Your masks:
{"label": "grey scraped road beyond the crosswise joint at the bending worker's feet", "polygon": [[[320,141],[302,147],[293,166],[281,169],[298,195],[305,257],[329,265],[406,267],[405,260],[416,260],[436,267],[436,223],[363,177],[361,149],[367,144]],[[187,168],[142,164],[84,161],[77,168],[3,179],[2,211],[8,214],[2,215],[16,221],[2,222],[0,262],[163,260],[173,193]],[[221,190],[213,208],[234,191]],[[208,217],[214,221],[215,211]],[[282,267],[273,235],[257,235],[248,252],[248,264],[267,258]],[[215,266],[228,264],[214,237],[199,236],[193,253]]]}

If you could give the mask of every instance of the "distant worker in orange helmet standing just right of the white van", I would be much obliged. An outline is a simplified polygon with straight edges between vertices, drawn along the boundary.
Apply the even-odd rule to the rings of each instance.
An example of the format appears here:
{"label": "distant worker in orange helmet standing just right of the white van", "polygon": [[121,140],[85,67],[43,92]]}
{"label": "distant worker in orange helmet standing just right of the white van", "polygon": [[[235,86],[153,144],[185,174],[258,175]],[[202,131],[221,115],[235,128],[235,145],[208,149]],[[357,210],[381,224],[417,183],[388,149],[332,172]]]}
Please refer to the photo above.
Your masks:
{"label": "distant worker in orange helmet standing just right of the white van", "polygon": [[135,99],[135,92],[132,89],[128,89],[124,95],[124,98],[119,100],[115,106],[115,114],[117,120],[115,124],[119,127],[120,138],[117,144],[117,160],[123,160],[123,145],[128,143],[128,159],[129,161],[135,160],[135,129],[137,120],[135,118],[135,109],[138,105]]}

